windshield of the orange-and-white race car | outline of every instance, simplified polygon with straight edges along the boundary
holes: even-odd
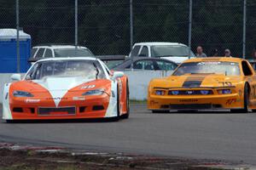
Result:
[[[27,73],[26,80],[41,80],[45,77],[83,77],[102,79],[105,74],[98,61],[58,60],[42,61],[34,65]]]

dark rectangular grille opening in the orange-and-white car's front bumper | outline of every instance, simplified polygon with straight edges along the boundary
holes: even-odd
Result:
[[[75,115],[75,107],[60,107],[60,108],[39,108],[38,115],[48,116],[48,115]]]

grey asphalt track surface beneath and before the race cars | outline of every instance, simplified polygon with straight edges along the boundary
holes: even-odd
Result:
[[[2,115],[2,108],[0,108]],[[1,116],[2,117],[2,116]],[[153,114],[131,105],[119,122],[0,122],[0,142],[256,164],[256,113]]]

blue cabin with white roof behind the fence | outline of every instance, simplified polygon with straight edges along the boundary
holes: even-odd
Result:
[[[30,65],[31,36],[24,31],[20,35],[20,72],[26,72]],[[16,30],[0,29],[0,73],[17,72]]]

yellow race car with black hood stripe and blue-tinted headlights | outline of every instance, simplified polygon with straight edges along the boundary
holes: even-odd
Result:
[[[148,109],[256,111],[255,89],[256,74],[246,59],[188,59],[172,76],[149,82]]]

